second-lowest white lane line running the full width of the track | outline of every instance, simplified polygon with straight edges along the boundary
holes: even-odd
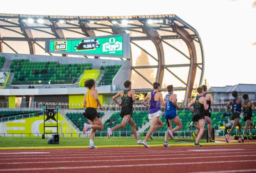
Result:
[[[254,155],[235,155],[236,157],[252,157]],[[84,162],[120,162],[120,161],[145,161],[145,160],[175,160],[175,159],[196,159],[196,158],[230,158],[232,156],[207,156],[207,157],[186,157],[186,158],[135,158],[135,159],[112,159],[112,160],[69,160],[69,161],[54,161],[54,163],[84,163]],[[47,162],[7,162],[1,164],[34,164],[34,163],[52,163],[52,161]]]

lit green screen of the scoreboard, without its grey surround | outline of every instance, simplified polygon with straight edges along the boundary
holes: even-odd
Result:
[[[102,54],[123,56],[123,36],[89,39],[50,40],[49,51],[63,54]]]

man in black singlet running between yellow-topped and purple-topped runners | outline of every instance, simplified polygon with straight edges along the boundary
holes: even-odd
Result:
[[[113,96],[113,100],[121,106],[120,117],[123,118],[121,124],[116,125],[113,128],[108,128],[107,135],[110,138],[112,135],[112,131],[118,130],[120,128],[125,128],[126,124],[129,123],[131,125],[131,131],[137,141],[137,144],[142,144],[142,141],[138,139],[136,132],[136,124],[132,119],[132,107],[133,102],[135,102],[135,91],[131,90],[131,81],[125,81],[124,83],[125,90],[118,92],[115,96]],[[121,97],[122,102],[118,102],[117,98]]]

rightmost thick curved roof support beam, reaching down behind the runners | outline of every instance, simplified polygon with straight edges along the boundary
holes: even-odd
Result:
[[[188,51],[189,51],[189,57],[190,57],[190,67],[188,72],[188,81],[187,81],[187,89],[185,92],[185,98],[184,98],[184,105],[188,105],[189,99],[192,94],[193,85],[195,81],[196,76],[196,70],[197,70],[197,57],[196,57],[196,48],[193,42],[193,37],[190,36],[188,31],[184,30],[183,28],[180,28],[177,24],[172,25],[172,29],[174,32],[176,32],[177,35],[181,37],[181,39],[187,44]]]

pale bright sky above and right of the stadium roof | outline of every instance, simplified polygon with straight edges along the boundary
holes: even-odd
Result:
[[[0,13],[175,14],[199,33],[209,86],[256,84],[256,0],[1,0]]]

